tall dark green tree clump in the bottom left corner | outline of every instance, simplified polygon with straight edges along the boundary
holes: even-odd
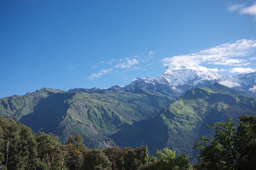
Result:
[[[0,132],[0,161],[8,164],[8,169],[36,169],[37,142],[32,130],[22,123],[0,116]]]

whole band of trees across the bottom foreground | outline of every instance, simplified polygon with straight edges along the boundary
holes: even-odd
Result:
[[[256,116],[213,123],[214,138],[200,137],[198,163],[168,148],[149,154],[147,146],[88,149],[80,134],[61,145],[51,133],[34,134],[22,123],[0,116],[0,162],[9,170],[252,170],[256,169]]]

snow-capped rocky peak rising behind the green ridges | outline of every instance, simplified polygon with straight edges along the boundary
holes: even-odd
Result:
[[[256,97],[256,72],[226,76],[192,61],[186,61],[182,65],[169,66],[158,78],[137,78],[124,88],[141,87],[163,94],[180,96],[192,87],[209,87],[216,82],[245,91]]]

